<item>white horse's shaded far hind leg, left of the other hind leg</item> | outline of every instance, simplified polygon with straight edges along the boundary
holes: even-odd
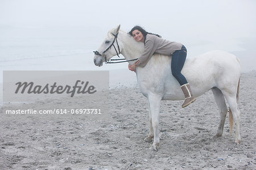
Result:
[[[221,90],[218,88],[213,88],[212,92],[214,95],[215,102],[218,106],[218,111],[220,113],[220,123],[218,125],[218,131],[216,134],[217,137],[220,137],[222,136],[222,133],[223,133],[224,123],[226,119],[226,114],[228,113],[228,108],[226,107],[226,102]]]

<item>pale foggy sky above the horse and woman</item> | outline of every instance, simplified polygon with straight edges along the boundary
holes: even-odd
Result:
[[[38,36],[55,28],[59,36],[101,41],[118,24],[124,31],[138,24],[177,42],[232,45],[237,38],[256,38],[255,9],[254,0],[0,0],[0,28],[43,30],[35,31]]]

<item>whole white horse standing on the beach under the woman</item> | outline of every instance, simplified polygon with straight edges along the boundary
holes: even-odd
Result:
[[[101,44],[98,51],[94,52],[94,64],[102,66],[115,55],[121,53],[126,60],[132,60],[141,55],[144,44],[134,40],[132,36],[122,30],[113,28]],[[114,48],[113,48],[114,47]],[[118,49],[117,49],[118,48]],[[134,61],[129,61],[133,64]],[[187,59],[181,71],[191,85],[195,97],[199,97],[208,90],[212,90],[220,113],[220,124],[217,136],[221,136],[224,128],[228,109],[231,110],[230,134],[232,133],[233,120],[236,125],[236,142],[241,143],[240,136],[240,110],[238,109],[238,94],[240,84],[241,65],[236,56],[223,51],[211,51],[203,55]],[[137,81],[142,94],[148,98],[150,107],[150,134],[144,140],[154,142],[152,150],[157,151],[159,146],[159,111],[161,100],[183,100],[184,94],[180,85],[171,73],[171,57],[157,53],[151,57],[145,67],[136,69]],[[193,104],[191,105],[193,107]],[[233,117],[232,117],[233,115]]]

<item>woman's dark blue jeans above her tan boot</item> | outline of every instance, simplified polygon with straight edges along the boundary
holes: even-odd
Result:
[[[183,45],[181,50],[177,50],[172,55],[172,63],[171,63],[171,69],[172,69],[172,76],[174,76],[180,85],[187,84],[186,78],[181,74],[181,69],[183,68],[183,65],[185,63],[187,57],[187,49]]]

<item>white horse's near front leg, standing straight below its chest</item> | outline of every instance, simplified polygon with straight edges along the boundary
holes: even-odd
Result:
[[[153,131],[154,134],[154,142],[150,147],[151,150],[157,151],[159,146],[159,133],[158,133],[158,126],[159,126],[159,111],[160,111],[160,101],[162,96],[157,94],[150,94],[148,95],[148,103],[150,106],[150,113],[151,113],[151,132]],[[150,132],[150,133],[151,133]]]

